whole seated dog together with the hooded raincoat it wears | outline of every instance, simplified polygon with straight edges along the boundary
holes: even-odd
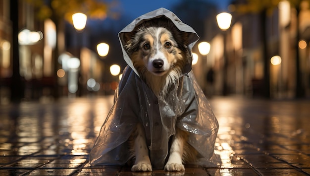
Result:
[[[127,66],[90,152],[91,165],[133,172],[216,167],[218,122],[192,70],[195,30],[158,8],[118,33]]]

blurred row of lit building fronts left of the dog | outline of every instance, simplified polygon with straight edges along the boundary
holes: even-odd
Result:
[[[72,24],[64,19],[60,25],[51,19],[39,20],[32,4],[26,0],[17,2],[18,9],[15,10],[18,12],[19,47],[13,49],[10,20],[10,3],[13,2],[0,0],[0,103],[10,101],[12,55],[17,51],[23,85],[20,90],[24,91],[23,100],[53,99],[70,95],[103,95],[113,92],[118,77],[110,78],[111,75],[106,72],[108,65],[104,64],[96,51],[90,49],[90,31],[76,31]],[[39,35],[39,39],[36,39],[35,35]],[[57,56],[54,56],[55,54]],[[68,60],[64,61],[58,56],[65,56],[68,60],[78,59],[79,66],[69,68]],[[90,78],[96,80],[96,88],[88,87],[87,81]]]

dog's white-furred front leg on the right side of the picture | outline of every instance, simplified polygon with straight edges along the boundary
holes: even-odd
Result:
[[[185,171],[184,165],[182,164],[182,156],[186,137],[186,132],[176,128],[170,148],[170,156],[164,168],[165,171]]]

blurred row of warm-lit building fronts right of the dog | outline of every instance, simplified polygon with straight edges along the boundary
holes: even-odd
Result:
[[[245,2],[245,0],[235,0],[234,5]],[[214,94],[222,95],[223,92],[223,82],[220,80],[224,77],[223,57],[226,52],[228,94],[264,97],[266,88],[264,81],[267,74],[270,98],[294,98],[296,91],[301,90],[304,91],[303,97],[309,97],[310,9],[308,1],[302,2],[300,9],[297,15],[296,9],[289,1],[281,1],[272,12],[264,14],[266,15],[263,21],[265,28],[261,27],[261,13],[232,12],[232,25],[225,31],[226,34],[219,32],[210,41],[211,50],[207,55],[207,67],[213,67],[215,71]],[[266,32],[266,55],[263,51],[263,30]],[[298,30],[299,41],[297,40]],[[224,37],[226,37],[225,40]],[[223,51],[224,48],[226,51]],[[297,50],[299,67],[296,63]],[[280,62],[271,63],[273,56],[279,56]],[[264,63],[265,61],[267,63]],[[268,64],[267,71],[264,70],[265,64]],[[301,89],[298,89],[297,85],[298,72],[300,72]]]

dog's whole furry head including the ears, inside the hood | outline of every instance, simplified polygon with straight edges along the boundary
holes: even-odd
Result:
[[[125,49],[140,74],[156,76],[178,70],[181,74],[189,53],[184,36],[173,24],[150,21],[140,26],[125,45]],[[175,75],[176,76],[176,75]],[[177,76],[176,76],[177,77]]]

